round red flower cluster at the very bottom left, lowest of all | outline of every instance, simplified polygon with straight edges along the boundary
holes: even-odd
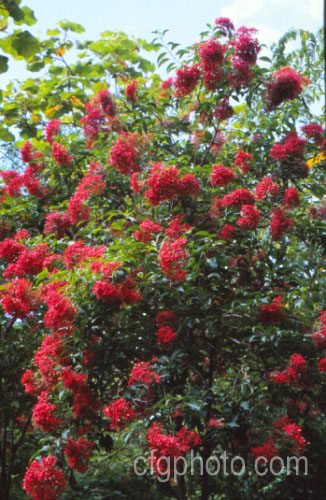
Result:
[[[64,473],[56,467],[57,461],[50,455],[30,464],[23,488],[33,500],[57,500],[67,488]]]

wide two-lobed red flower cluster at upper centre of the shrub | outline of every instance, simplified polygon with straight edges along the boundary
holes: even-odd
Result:
[[[159,205],[163,201],[172,200],[175,196],[194,196],[200,192],[200,184],[192,174],[180,177],[180,172],[175,167],[163,167],[156,163],[150,170],[147,178],[149,189],[145,196],[150,205]]]

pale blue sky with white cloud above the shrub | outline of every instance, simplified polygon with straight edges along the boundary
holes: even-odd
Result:
[[[86,28],[85,39],[120,30],[151,41],[154,30],[169,29],[167,39],[185,46],[197,42],[206,24],[221,16],[229,17],[236,28],[257,28],[258,39],[268,46],[292,28],[316,32],[323,20],[323,0],[23,0],[23,4],[38,19],[31,28],[36,36],[68,19]],[[32,75],[23,71],[23,63],[12,64],[7,74],[0,75],[0,87],[10,78],[26,76]]]

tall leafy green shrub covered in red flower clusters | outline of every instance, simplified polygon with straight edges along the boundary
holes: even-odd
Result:
[[[317,39],[313,69],[304,37],[262,68],[257,31],[218,18],[167,45],[178,66],[159,33],[104,32],[68,63],[67,23],[31,62],[44,82],[1,94],[1,499],[323,498]],[[162,465],[215,450],[249,457],[236,488]],[[309,478],[252,474],[289,453]]]

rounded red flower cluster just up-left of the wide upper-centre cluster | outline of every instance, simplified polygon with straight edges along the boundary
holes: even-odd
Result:
[[[123,175],[140,172],[139,152],[141,137],[139,134],[123,132],[110,149],[109,163]]]

